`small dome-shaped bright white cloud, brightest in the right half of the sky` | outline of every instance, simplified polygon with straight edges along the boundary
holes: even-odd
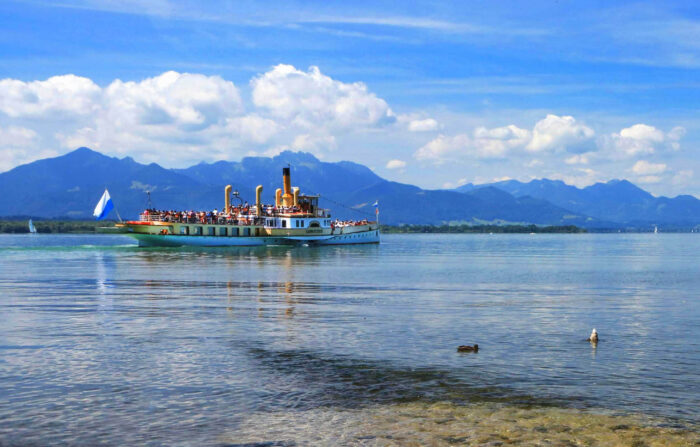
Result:
[[[591,149],[593,129],[577,123],[572,116],[547,115],[535,124],[532,139],[525,147],[530,152],[569,151]]]

